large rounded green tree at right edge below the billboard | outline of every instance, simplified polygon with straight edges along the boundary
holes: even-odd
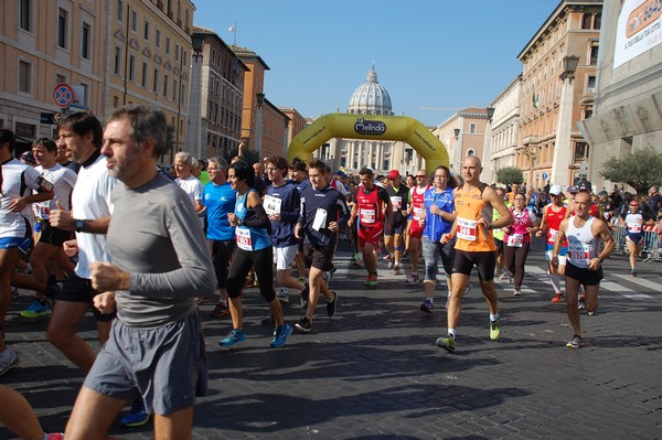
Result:
[[[611,157],[602,163],[600,175],[611,182],[627,183],[643,195],[662,182],[662,153],[652,148],[636,150],[622,159]]]

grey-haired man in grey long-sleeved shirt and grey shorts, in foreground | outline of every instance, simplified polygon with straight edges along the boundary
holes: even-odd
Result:
[[[186,194],[157,173],[167,120],[140,106],[115,110],[102,153],[119,179],[108,226],[113,264],[93,262],[102,313],[117,309],[110,339],[78,395],[66,438],[105,438],[120,409],[141,394],[156,439],[190,439],[195,395],[206,391],[206,353],[195,296],[212,294],[214,271]],[[136,208],[139,206],[140,208]]]

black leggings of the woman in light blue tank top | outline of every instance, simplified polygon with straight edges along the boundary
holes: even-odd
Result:
[[[250,268],[259,281],[259,292],[267,302],[276,298],[274,290],[274,248],[271,246],[260,250],[244,250],[237,248],[232,256],[227,273],[227,296],[237,298],[244,291],[246,276]]]

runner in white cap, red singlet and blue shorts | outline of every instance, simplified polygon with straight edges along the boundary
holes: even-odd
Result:
[[[568,255],[568,242],[564,240],[560,249],[558,250],[557,266],[552,265],[552,254],[554,251],[556,237],[558,236],[558,229],[560,228],[560,222],[566,218],[568,208],[563,203],[564,195],[560,186],[553,185],[549,189],[549,195],[552,196],[552,203],[543,208],[543,221],[541,223],[540,230],[536,233],[536,236],[542,237],[543,230],[545,230],[545,259],[547,260],[548,265],[547,275],[549,276],[552,287],[554,288],[554,297],[552,298],[552,302],[558,303],[563,302],[564,299],[558,276],[563,276],[565,273],[566,257]]]

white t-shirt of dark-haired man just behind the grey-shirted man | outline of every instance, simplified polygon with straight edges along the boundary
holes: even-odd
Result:
[[[74,192],[72,193],[72,215],[78,219],[97,219],[113,214],[110,193],[117,179],[108,175],[106,157],[99,155],[92,164],[81,167]],[[136,206],[140,210],[140,206]],[[78,264],[76,275],[92,278],[89,264],[110,261],[105,234],[76,233],[78,242]]]

